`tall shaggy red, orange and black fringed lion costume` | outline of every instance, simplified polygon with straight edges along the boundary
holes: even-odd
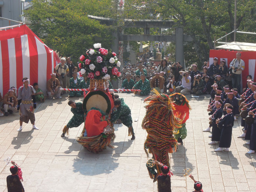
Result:
[[[148,103],[145,106],[146,115],[141,125],[142,129],[148,133],[144,150],[147,156],[148,153],[151,153],[153,159],[170,167],[169,153],[175,152],[178,144],[173,136],[173,130],[180,128],[181,121],[173,115],[173,106],[169,97],[160,94],[156,89],[153,92],[154,95],[150,95],[144,100]],[[157,169],[157,173],[154,169]],[[150,178],[153,179],[153,175],[161,173],[161,167],[148,167],[148,172]]]

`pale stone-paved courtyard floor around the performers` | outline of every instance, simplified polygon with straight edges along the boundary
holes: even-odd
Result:
[[[67,96],[67,95],[66,95]],[[22,132],[19,128],[17,113],[0,117],[0,191],[7,191],[6,177],[10,174],[11,164],[4,159],[11,157],[23,171],[23,186],[26,192],[155,192],[157,183],[148,176],[145,166],[147,157],[143,150],[146,132],[141,129],[145,115],[145,97],[120,93],[132,110],[133,127],[136,139],[130,140],[128,129],[115,124],[116,138],[114,149],[106,149],[100,154],[92,154],[75,140],[82,132],[82,124],[72,128],[70,135],[61,138],[62,129],[72,117],[68,98],[46,100],[36,111],[36,126],[32,130],[26,124]],[[82,98],[75,98],[82,102]],[[74,99],[73,99],[74,100]],[[195,180],[203,184],[205,192],[212,191],[256,191],[256,155],[245,154],[248,146],[243,139],[240,118],[233,127],[230,152],[214,152],[217,146],[208,145],[209,132],[206,106],[209,97],[191,98],[192,111],[187,121],[188,136],[184,146],[170,155],[171,186],[173,192],[193,190],[193,181],[183,177],[183,169],[190,168]],[[25,124],[24,124],[25,125]]]

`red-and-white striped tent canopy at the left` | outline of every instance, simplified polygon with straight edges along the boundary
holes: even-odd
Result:
[[[60,58],[26,25],[0,30],[0,92],[20,87],[22,78],[38,83],[46,92],[46,82]]]

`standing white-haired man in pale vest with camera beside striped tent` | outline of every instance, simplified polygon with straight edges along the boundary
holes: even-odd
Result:
[[[61,87],[63,88],[67,88],[67,75],[69,74],[69,69],[65,62],[66,58],[61,58],[61,62],[54,68],[54,72],[57,74]],[[64,92],[65,91],[63,91],[62,94]]]

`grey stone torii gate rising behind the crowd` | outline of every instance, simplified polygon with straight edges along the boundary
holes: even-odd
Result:
[[[112,18],[97,17],[88,15],[90,19],[98,20],[101,24],[115,25],[117,20]],[[123,35],[119,30],[113,30],[112,36],[115,38],[112,41],[111,49],[115,52],[119,52],[120,41],[175,41],[175,59],[180,61],[183,68],[184,65],[184,41],[193,41],[191,36],[183,34],[183,27],[176,27],[174,35],[150,35],[150,28],[171,28],[174,25],[174,21],[154,20],[154,19],[142,19],[139,21],[133,21],[131,19],[124,19],[124,28],[143,28],[143,35]],[[119,56],[120,57],[120,56]]]

